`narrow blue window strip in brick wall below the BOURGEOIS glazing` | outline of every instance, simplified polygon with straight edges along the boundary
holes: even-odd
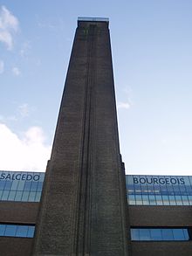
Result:
[[[131,228],[133,241],[188,241],[189,228]]]

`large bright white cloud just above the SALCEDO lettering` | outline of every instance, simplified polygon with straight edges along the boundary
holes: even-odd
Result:
[[[0,124],[0,170],[45,170],[51,146],[45,145],[42,128],[31,127],[19,138]]]

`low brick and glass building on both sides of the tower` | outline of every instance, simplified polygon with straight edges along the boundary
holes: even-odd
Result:
[[[43,172],[0,171],[0,254],[28,256]],[[192,252],[192,176],[126,176],[130,255]],[[10,246],[11,245],[11,246]]]

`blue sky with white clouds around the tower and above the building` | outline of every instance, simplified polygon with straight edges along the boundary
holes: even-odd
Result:
[[[109,17],[127,173],[192,174],[192,2],[0,1],[0,170],[45,170],[77,17]]]

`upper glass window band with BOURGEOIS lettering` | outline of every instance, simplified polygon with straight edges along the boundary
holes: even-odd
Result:
[[[128,204],[192,205],[192,176],[127,176]]]

